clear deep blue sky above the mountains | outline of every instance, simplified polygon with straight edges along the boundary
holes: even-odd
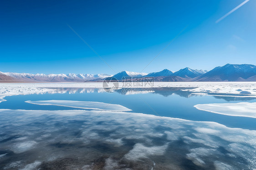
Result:
[[[0,71],[115,74],[256,65],[256,0],[215,23],[243,1],[1,1]]]

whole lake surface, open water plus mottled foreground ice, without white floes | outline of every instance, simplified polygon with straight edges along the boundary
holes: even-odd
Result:
[[[122,89],[107,93],[97,88],[61,88],[7,96],[0,103],[0,109],[10,109],[0,112],[0,169],[256,168],[256,119],[194,107],[256,99],[195,95],[182,89],[186,88],[126,94]],[[34,105],[27,100],[103,102],[131,111]]]

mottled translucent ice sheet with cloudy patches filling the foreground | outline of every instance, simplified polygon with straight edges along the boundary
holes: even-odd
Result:
[[[256,131],[215,122],[116,111],[1,109],[0,129],[8,131],[1,133],[0,141],[5,142],[0,150],[19,153],[14,160],[22,162],[19,168],[35,161],[57,167],[66,164],[67,158],[76,162],[77,169],[92,162],[96,166],[99,160],[105,166],[113,161],[116,169],[122,169],[123,164],[139,169],[153,162],[155,169],[184,169],[186,159],[193,162],[189,166],[194,169],[210,169],[212,165],[220,169],[256,168]],[[25,143],[33,145],[22,150]],[[23,155],[32,155],[30,162]],[[83,160],[81,167],[79,155],[88,160]],[[49,156],[54,160],[47,162]]]

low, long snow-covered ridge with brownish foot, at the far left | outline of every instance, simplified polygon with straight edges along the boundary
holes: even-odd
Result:
[[[2,73],[2,75],[9,76],[12,78],[12,81],[20,81],[20,82],[84,82],[86,80],[93,80],[97,78],[106,78],[112,75],[107,74],[30,74],[30,73]],[[8,80],[10,80],[8,78]],[[6,79],[6,78],[5,78]]]

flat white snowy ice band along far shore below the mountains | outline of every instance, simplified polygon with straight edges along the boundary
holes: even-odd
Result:
[[[133,84],[132,84],[133,85]],[[102,83],[1,83],[0,96],[7,95],[25,95],[47,91],[40,88],[102,88]],[[141,86],[132,86],[129,88]],[[143,87],[195,87],[187,89],[191,92],[218,93],[218,94],[237,94],[256,95],[256,82],[154,82],[153,85],[144,85]],[[30,88],[30,89],[29,89]],[[119,83],[119,88],[125,88],[123,83]],[[20,91],[19,91],[20,90]],[[48,91],[52,91],[48,90]],[[251,93],[251,94],[250,94]]]

